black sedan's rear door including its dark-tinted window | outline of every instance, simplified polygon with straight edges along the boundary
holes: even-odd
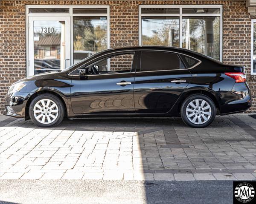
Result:
[[[174,52],[140,51],[140,59],[134,80],[136,113],[168,113],[192,75]]]

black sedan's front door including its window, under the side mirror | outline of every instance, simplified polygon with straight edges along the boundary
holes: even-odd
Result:
[[[111,55],[74,71],[71,104],[76,114],[134,113],[134,53]]]

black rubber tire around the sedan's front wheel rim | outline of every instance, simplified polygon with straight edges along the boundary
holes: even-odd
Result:
[[[37,102],[39,102],[40,100],[42,100],[42,99],[50,99],[53,102],[55,102],[55,104],[58,106],[58,116],[57,116],[57,118],[53,122],[48,123],[48,124],[44,124],[44,123],[39,122],[37,119],[35,119],[35,116],[34,116],[33,108],[34,108],[35,104]],[[30,119],[32,120],[32,122],[35,125],[38,125],[39,127],[57,126],[62,122],[62,120],[64,118],[64,115],[65,115],[65,109],[64,109],[63,102],[58,97],[56,97],[55,95],[52,95],[52,94],[41,94],[39,96],[36,96],[35,99],[33,99],[32,102],[29,105]]]

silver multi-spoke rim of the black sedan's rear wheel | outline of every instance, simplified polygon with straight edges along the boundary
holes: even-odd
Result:
[[[186,116],[190,122],[201,125],[206,123],[212,115],[212,109],[203,99],[195,99],[186,107]]]

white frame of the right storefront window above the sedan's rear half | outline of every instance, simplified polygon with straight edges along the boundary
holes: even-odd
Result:
[[[179,14],[142,14],[142,8],[179,8]],[[220,8],[219,14],[182,14],[182,8]],[[222,53],[223,53],[223,20],[222,15],[223,13],[223,6],[216,4],[216,5],[140,5],[139,6],[139,45],[142,45],[142,27],[141,27],[141,19],[142,16],[173,16],[179,17],[179,34],[180,34],[180,48],[182,48],[182,17],[184,16],[197,16],[197,17],[204,17],[204,16],[219,16],[220,17],[220,61],[222,62]]]

